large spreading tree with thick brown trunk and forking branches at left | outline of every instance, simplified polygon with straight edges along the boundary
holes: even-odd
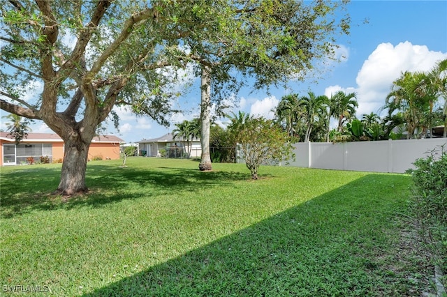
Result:
[[[185,65],[179,38],[193,26],[177,17],[194,5],[170,2],[2,2],[0,108],[42,120],[64,140],[64,195],[87,190],[89,145],[115,105],[166,123],[175,95],[166,84]]]

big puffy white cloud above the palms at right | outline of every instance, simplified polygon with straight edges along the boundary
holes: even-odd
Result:
[[[394,46],[381,43],[368,56],[358,71],[356,87],[342,88],[329,86],[325,95],[330,96],[335,91],[356,92],[358,99],[357,116],[379,112],[385,105],[385,99],[393,81],[404,71],[428,71],[437,61],[446,59],[447,53],[433,52],[425,45],[412,45],[406,41]]]

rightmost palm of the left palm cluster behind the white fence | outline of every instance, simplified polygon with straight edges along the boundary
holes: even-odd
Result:
[[[343,131],[343,124],[356,114],[358,102],[356,93],[338,91],[329,99],[330,116],[338,120],[337,130]]]

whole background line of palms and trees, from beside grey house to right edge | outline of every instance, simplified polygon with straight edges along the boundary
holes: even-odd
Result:
[[[434,126],[447,125],[447,59],[439,61],[432,70],[404,72],[393,82],[385,104],[380,110],[356,117],[358,100],[356,93],[338,91],[332,96],[317,96],[309,91],[305,96],[296,93],[284,96],[274,109],[270,125],[285,133],[284,142],[356,142],[385,139],[433,137]],[[246,132],[247,123],[255,118],[244,112],[226,115],[226,127],[216,123],[210,128],[212,162],[236,162],[237,144]],[[337,121],[330,128],[330,121]],[[267,121],[263,119],[263,121]],[[189,146],[192,139],[200,138],[200,121],[184,121],[176,124],[173,134]],[[252,127],[251,127],[252,129]],[[252,135],[253,137],[253,135]],[[259,135],[258,135],[259,138]],[[247,139],[245,139],[247,141]]]

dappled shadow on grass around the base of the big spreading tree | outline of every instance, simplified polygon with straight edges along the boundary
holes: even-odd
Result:
[[[123,199],[172,195],[175,191],[194,192],[247,178],[249,174],[240,172],[91,165],[86,176],[90,192],[64,200],[60,195],[52,195],[59,184],[60,168],[19,169],[1,176],[1,218],[57,208],[101,207]]]

